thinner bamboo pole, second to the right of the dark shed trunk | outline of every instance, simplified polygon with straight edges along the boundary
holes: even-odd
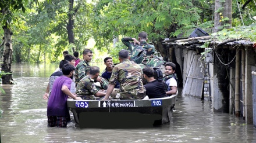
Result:
[[[241,56],[241,75],[242,75],[242,93],[243,93],[243,117],[246,118],[246,51],[244,49]]]

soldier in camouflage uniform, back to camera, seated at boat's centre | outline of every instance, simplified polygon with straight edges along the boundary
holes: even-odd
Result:
[[[120,50],[120,64],[113,67],[104,100],[109,100],[109,96],[112,93],[116,82],[120,83],[118,93],[120,94],[121,100],[138,100],[145,97],[145,87],[142,82],[143,72],[140,65],[129,61],[128,58],[129,52],[127,50]]]

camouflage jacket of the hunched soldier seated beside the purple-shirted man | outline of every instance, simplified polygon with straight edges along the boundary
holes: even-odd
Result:
[[[93,100],[94,94],[97,92],[98,90],[94,85],[94,79],[88,76],[81,79],[76,87],[76,94],[83,98],[83,100]]]

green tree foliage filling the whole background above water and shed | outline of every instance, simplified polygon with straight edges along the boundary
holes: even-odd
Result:
[[[72,9],[70,2],[73,2]],[[241,15],[236,0],[232,3],[232,25],[237,28],[223,30],[218,34],[222,38],[228,38],[225,33],[226,36],[237,34],[235,32],[243,25],[241,17],[245,25],[255,23],[254,2],[248,3],[244,9],[241,7],[246,1],[238,2]],[[212,0],[8,0],[1,1],[0,8],[1,24],[12,24],[13,60],[37,63],[59,61],[63,58],[63,50],[72,53],[72,47],[81,55],[85,47],[94,47],[88,43],[90,38],[95,40],[95,48],[100,52],[108,49],[111,56],[115,56],[116,49],[123,46],[120,43],[112,49],[113,38],[120,35],[137,38],[140,31],[147,32],[148,42],[153,42],[158,49],[162,39],[179,34],[188,36],[196,27],[211,33],[215,13]],[[2,13],[5,9],[8,12]],[[69,42],[67,34],[70,16],[74,43]],[[254,40],[253,32],[244,32],[241,36]]]

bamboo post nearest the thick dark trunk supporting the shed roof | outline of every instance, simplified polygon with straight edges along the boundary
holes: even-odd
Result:
[[[236,75],[235,75],[235,90],[234,90],[234,111],[236,116],[240,116],[240,109],[239,109],[239,83],[240,83],[240,49],[236,49]]]

